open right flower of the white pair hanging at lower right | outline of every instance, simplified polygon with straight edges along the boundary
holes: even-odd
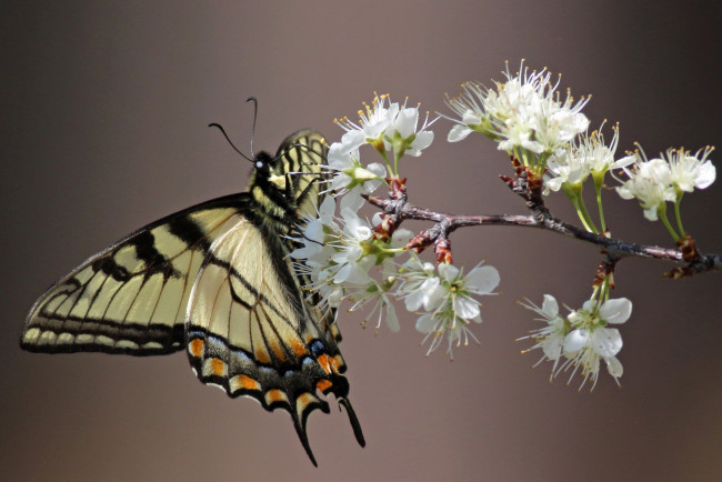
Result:
[[[568,370],[573,366],[572,375],[582,369],[584,386],[591,380],[592,388],[596,385],[600,360],[606,363],[609,374],[619,384],[623,374],[622,363],[616,354],[622,349],[622,335],[615,328],[605,328],[609,324],[622,324],[632,314],[632,302],[625,298],[606,300],[601,307],[596,301],[586,301],[579,311],[573,311],[568,319],[573,329],[564,338],[563,353],[566,361],[560,368]],[[570,380],[571,380],[570,376]]]

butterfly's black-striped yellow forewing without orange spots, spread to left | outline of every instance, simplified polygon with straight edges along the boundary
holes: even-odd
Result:
[[[32,307],[28,351],[134,355],[183,349],[193,281],[225,221],[248,209],[232,194],[171,214],[91,257]]]

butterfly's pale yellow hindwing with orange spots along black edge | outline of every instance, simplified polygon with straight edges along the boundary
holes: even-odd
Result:
[[[203,383],[222,386],[230,396],[252,396],[267,410],[287,410],[310,453],[305,418],[314,409],[329,412],[315,392],[330,375],[311,348],[317,343],[323,351],[322,334],[274,265],[273,248],[267,245],[273,241],[239,220],[213,243],[191,295],[188,353]],[[255,253],[252,262],[244,257],[247,247]]]

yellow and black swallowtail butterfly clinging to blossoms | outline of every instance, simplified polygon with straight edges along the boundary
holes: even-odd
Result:
[[[349,401],[335,313],[288,254],[288,237],[317,214],[328,149],[303,130],[258,153],[248,192],[188,208],[129,234],[53,284],[20,341],[42,353],[131,355],[185,350],[193,372],[231,398],[283,409],[311,462],[305,423],[333,393],[365,445]],[[298,263],[299,261],[297,261]]]

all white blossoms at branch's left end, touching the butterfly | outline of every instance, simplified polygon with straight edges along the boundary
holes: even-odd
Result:
[[[448,341],[452,347],[475,340],[471,322],[481,322],[480,303],[473,295],[492,294],[499,284],[493,267],[478,265],[464,275],[451,265],[435,267],[422,262],[407,249],[411,231],[394,229],[383,233],[381,217],[371,222],[358,215],[364,203],[362,195],[374,192],[397,178],[399,160],[419,157],[433,141],[428,128],[435,121],[427,114],[419,127],[418,107],[391,102],[388,96],[377,96],[371,106],[359,112],[360,121],[338,120],[345,133],[340,142],[329,147],[329,181],[327,197],[318,215],[308,218],[291,240],[298,248],[290,253],[297,271],[308,275],[304,287],[320,295],[324,311],[339,309],[347,300],[349,311],[365,309],[375,318],[375,328],[383,322],[391,331],[400,329],[395,303],[403,301],[408,311],[419,315],[417,330],[431,338],[428,354]],[[383,163],[361,162],[360,148],[369,144]],[[340,198],[335,214],[335,198]],[[400,261],[405,257],[405,261]],[[425,340],[425,339],[424,339]]]

